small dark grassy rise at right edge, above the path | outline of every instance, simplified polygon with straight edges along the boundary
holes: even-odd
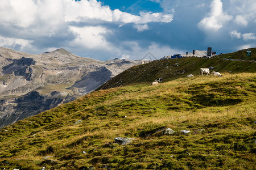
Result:
[[[251,56],[246,56],[246,52],[251,51]],[[221,56],[216,56],[215,58],[228,58],[228,59],[247,59],[247,60],[256,60],[256,48],[249,48],[239,50],[238,52],[222,54]]]

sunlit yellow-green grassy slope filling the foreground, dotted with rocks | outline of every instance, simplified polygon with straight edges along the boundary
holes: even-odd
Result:
[[[1,129],[0,168],[256,169],[256,73],[166,79],[96,91]]]

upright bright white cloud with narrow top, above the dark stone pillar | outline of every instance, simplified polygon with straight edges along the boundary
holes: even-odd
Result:
[[[205,32],[216,32],[231,19],[232,16],[222,10],[222,2],[220,0],[213,0],[212,3],[210,3],[208,17],[202,19],[197,25]]]

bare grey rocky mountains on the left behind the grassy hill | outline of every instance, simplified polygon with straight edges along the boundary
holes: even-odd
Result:
[[[0,48],[0,128],[75,100],[144,62],[102,62],[65,49],[34,55]]]

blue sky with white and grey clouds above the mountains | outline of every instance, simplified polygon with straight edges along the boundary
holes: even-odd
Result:
[[[0,46],[101,61],[229,53],[256,47],[255,9],[255,0],[2,0]]]

